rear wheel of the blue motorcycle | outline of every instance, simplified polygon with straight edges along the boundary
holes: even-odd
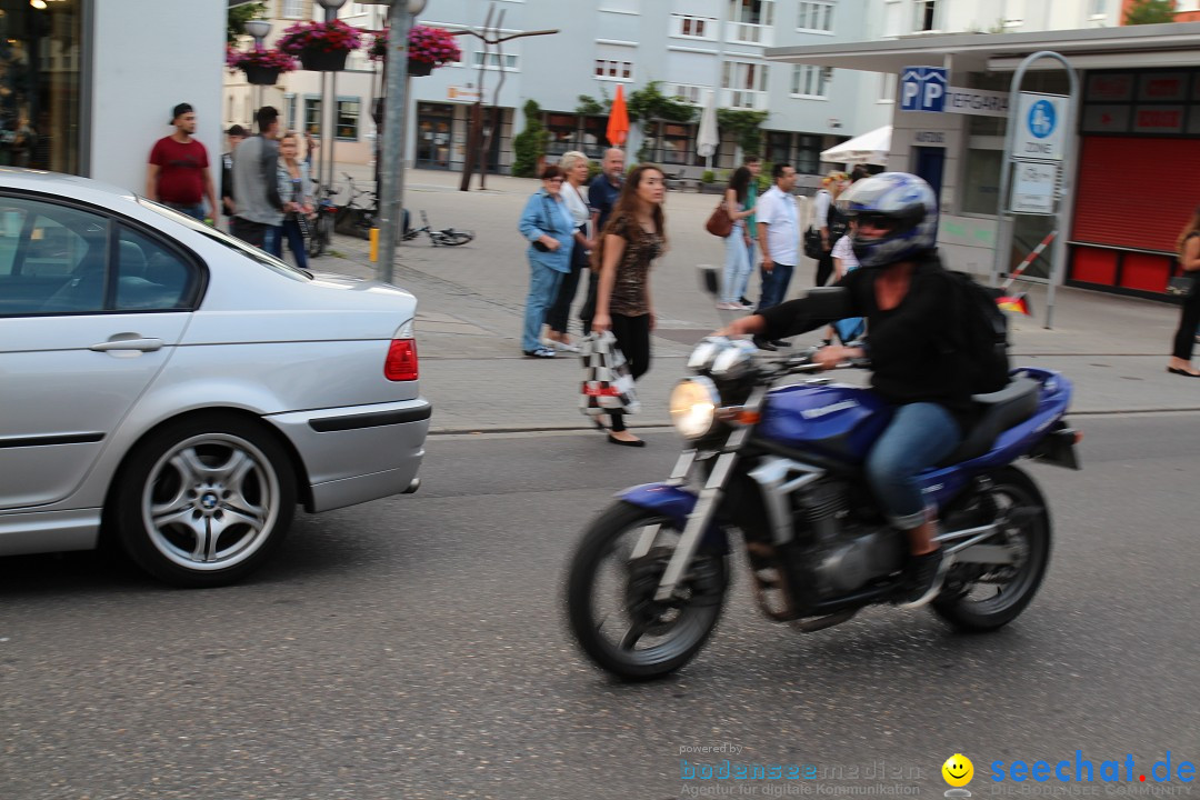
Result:
[[[1016,619],[1033,600],[1050,564],[1050,512],[1042,489],[1015,467],[1000,469],[989,477],[997,510],[1019,512],[1019,518],[985,543],[1013,547],[1018,563],[980,575],[967,575],[971,569],[967,564],[950,569],[946,588],[930,606],[964,632],[995,631]]]

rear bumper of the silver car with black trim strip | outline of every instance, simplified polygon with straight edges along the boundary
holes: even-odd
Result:
[[[425,398],[338,409],[274,414],[300,453],[312,494],[308,511],[400,494],[425,457],[433,407]]]

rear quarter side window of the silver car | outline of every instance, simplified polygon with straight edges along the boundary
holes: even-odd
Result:
[[[167,311],[192,303],[196,269],[175,251],[138,230],[116,239],[116,309]]]

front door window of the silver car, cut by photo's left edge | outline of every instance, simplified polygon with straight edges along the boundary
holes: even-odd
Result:
[[[107,241],[100,215],[0,197],[0,315],[103,309]]]

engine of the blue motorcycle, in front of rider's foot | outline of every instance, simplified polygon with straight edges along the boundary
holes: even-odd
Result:
[[[904,566],[904,536],[851,509],[851,488],[839,481],[820,481],[793,495],[796,528],[808,531],[802,535],[805,567],[821,597],[857,591]]]

